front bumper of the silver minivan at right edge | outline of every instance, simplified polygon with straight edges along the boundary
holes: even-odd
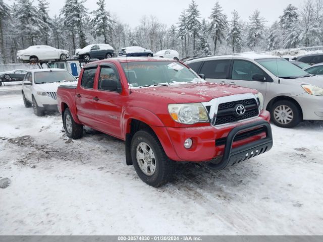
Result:
[[[323,120],[323,97],[302,93],[295,97],[302,108],[304,120]]]

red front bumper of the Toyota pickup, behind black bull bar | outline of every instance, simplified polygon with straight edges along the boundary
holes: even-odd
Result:
[[[266,128],[259,132],[254,132],[254,130],[259,130],[259,122],[268,124],[269,120],[270,114],[268,111],[262,111],[258,117],[228,125],[192,128],[153,127],[153,130],[170,159],[203,162],[224,157],[225,149],[228,147],[227,142],[230,141],[229,136],[233,130],[237,130],[236,128],[239,128],[238,133],[235,134],[237,138],[233,138],[232,145],[229,145],[232,150],[249,144],[251,144],[249,148],[257,147],[257,141],[271,137],[271,130],[268,129],[268,132]],[[240,133],[243,132],[245,126],[249,127],[250,132],[248,131],[248,135],[243,136]],[[266,127],[266,125],[262,126]],[[186,149],[184,142],[188,138],[193,140],[193,145]],[[272,140],[272,138],[270,139]],[[267,148],[266,151],[270,148]]]

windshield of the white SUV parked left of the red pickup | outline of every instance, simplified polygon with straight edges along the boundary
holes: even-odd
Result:
[[[66,71],[47,71],[47,72],[35,72],[34,81],[39,83],[53,83],[53,82],[73,82],[76,79]]]

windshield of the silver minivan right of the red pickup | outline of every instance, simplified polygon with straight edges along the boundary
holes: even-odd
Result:
[[[256,59],[255,61],[280,78],[294,79],[310,76],[283,58]]]

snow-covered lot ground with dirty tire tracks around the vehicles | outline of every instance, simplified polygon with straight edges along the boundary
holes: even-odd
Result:
[[[323,123],[273,126],[270,152],[222,171],[178,164],[155,189],[124,164],[124,143],[61,116],[37,117],[0,87],[0,235],[322,234]],[[10,90],[9,90],[10,89]]]

